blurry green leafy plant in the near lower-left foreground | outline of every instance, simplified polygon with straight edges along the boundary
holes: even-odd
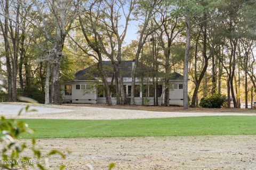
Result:
[[[3,82],[0,80],[0,91],[7,93],[6,89],[3,87]],[[24,101],[35,101],[27,97],[19,97]],[[22,111],[25,112],[35,112],[35,109],[29,109],[29,105],[21,109],[18,116]],[[27,147],[25,142],[20,142],[18,139],[23,133],[34,133],[32,129],[29,128],[28,124],[14,119],[6,119],[1,116],[0,120],[0,142],[3,147],[0,159],[1,169],[49,169],[49,159],[51,155],[60,155],[65,159],[65,155],[57,150],[53,149],[49,151],[46,155],[43,155],[41,150],[36,147],[36,140],[31,139],[31,148]],[[28,155],[24,154],[25,149],[28,149]],[[23,156],[25,155],[25,156]],[[33,156],[32,156],[33,155]],[[35,167],[37,166],[37,168]],[[60,165],[60,170],[65,169],[64,165]]]

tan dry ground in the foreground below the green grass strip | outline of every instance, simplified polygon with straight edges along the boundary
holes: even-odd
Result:
[[[27,140],[23,140],[27,141]],[[191,137],[129,137],[39,139],[43,151],[57,148],[65,160],[54,156],[52,167],[67,169],[255,169],[256,135],[209,135]]]

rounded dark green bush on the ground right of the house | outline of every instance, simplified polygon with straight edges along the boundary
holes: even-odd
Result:
[[[221,94],[213,94],[212,96],[203,97],[199,106],[207,108],[220,108],[225,104],[226,96]]]

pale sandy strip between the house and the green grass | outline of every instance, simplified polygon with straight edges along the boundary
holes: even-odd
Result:
[[[8,107],[1,107],[1,106],[4,106],[4,104],[0,105],[0,115],[4,115],[6,118],[117,120],[117,119],[189,117],[189,116],[231,116],[231,115],[256,116],[255,113],[155,112],[155,111],[136,111],[136,110],[129,110],[129,109],[115,109],[115,108],[102,108],[102,107],[56,106],[56,105],[33,106],[34,108],[38,108],[39,112],[21,114],[20,116],[17,116],[13,113],[12,114],[8,113],[8,109],[12,111],[13,110],[12,107],[17,108],[18,107],[17,105],[8,105]],[[3,108],[5,108],[5,110],[1,111],[1,109]],[[58,112],[58,113],[53,113],[53,112]]]

